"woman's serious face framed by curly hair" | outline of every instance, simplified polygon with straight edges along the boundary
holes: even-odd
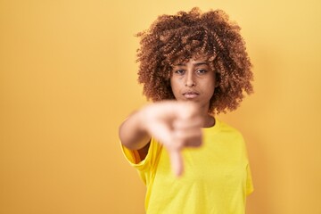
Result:
[[[215,89],[215,71],[206,58],[190,59],[174,66],[170,85],[177,101],[190,101],[208,111]]]

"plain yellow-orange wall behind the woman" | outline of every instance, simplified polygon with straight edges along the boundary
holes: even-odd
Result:
[[[321,213],[321,4],[0,0],[0,213],[144,213],[118,143],[142,106],[134,34],[221,8],[243,28],[255,95],[221,115],[247,141],[248,213]]]

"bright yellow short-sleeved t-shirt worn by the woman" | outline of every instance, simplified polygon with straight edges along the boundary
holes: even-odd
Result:
[[[122,151],[147,187],[146,213],[245,213],[253,186],[243,136],[235,128],[219,120],[203,128],[202,147],[182,151],[182,177],[172,173],[168,152],[153,138],[144,160],[124,146]]]

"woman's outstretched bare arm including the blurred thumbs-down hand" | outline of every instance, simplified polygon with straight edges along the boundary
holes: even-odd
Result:
[[[180,175],[183,172],[180,151],[202,144],[202,122],[193,103],[153,103],[134,112],[121,124],[119,138],[128,149],[140,150],[146,155],[151,136],[155,137],[169,151],[172,169]]]

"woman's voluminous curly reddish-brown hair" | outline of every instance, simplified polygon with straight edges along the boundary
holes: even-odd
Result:
[[[202,13],[197,7],[190,12],[161,15],[150,29],[136,34],[138,82],[143,94],[153,102],[175,99],[171,70],[175,63],[196,55],[208,57],[216,70],[216,88],[210,99],[210,113],[234,111],[243,100],[243,92],[253,92],[251,62],[240,27],[229,21],[221,10]]]

